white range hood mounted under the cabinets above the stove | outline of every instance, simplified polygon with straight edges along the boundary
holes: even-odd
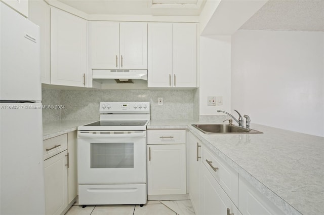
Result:
[[[147,81],[146,69],[93,69],[92,79],[99,83],[136,83]]]

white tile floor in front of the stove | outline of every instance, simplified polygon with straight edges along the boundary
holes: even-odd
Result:
[[[139,205],[88,205],[85,208],[77,202],[65,215],[195,215],[190,200],[148,201]]]

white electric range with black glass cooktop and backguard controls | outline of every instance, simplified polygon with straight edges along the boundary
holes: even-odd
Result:
[[[146,203],[149,102],[101,102],[100,121],[77,134],[80,205]]]

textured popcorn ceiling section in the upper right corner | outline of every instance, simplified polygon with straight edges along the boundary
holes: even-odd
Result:
[[[324,1],[270,0],[240,29],[324,31]]]

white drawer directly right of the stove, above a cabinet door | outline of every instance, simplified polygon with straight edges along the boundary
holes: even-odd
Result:
[[[186,130],[147,130],[147,144],[185,144]]]

